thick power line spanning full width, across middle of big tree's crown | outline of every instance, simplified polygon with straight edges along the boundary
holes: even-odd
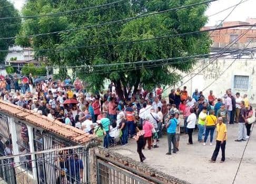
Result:
[[[149,40],[171,38],[171,37],[199,34],[199,33],[205,33],[205,32],[213,32],[214,30],[222,30],[222,29],[244,27],[244,26],[249,27],[249,26],[254,26],[254,25],[248,25],[248,24],[233,25],[233,26],[218,27],[218,28],[212,28],[212,29],[196,30],[194,32],[180,33],[180,34],[175,34],[175,35],[160,36],[160,37],[146,38],[146,39],[137,39],[137,40],[130,40],[130,41],[126,41],[126,42],[116,42],[116,43],[108,43],[108,44],[98,44],[98,45],[88,45],[88,46],[72,46],[72,47],[66,47],[66,48],[48,48],[48,49],[0,50],[0,52],[12,53],[12,52],[40,52],[40,51],[50,51],[50,50],[60,51],[60,50],[77,49],[77,48],[93,48],[93,47],[102,47],[102,46],[111,46],[111,45],[122,45],[122,44],[136,43],[136,42],[145,42],[145,41],[149,41]],[[0,38],[0,40],[1,40],[1,38]]]

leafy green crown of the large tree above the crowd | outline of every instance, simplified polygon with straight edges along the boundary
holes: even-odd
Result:
[[[102,5],[115,0],[93,1],[28,1],[23,9],[24,15],[34,13],[53,13],[70,9]],[[152,13],[166,9],[203,2],[204,0],[151,0],[120,2],[110,7],[92,8],[63,17],[38,18],[36,23],[25,21],[23,34],[38,34],[63,30],[68,28],[90,26]],[[127,98],[131,88],[137,89],[143,85],[146,89],[153,89],[156,85],[171,85],[179,80],[178,70],[189,70],[195,63],[194,59],[170,60],[164,62],[135,63],[161,58],[172,58],[209,53],[209,35],[196,34],[171,38],[148,40],[126,44],[112,44],[129,42],[159,36],[173,35],[200,30],[206,23],[204,16],[208,5],[197,5],[178,11],[156,14],[132,21],[107,24],[100,27],[78,29],[72,32],[33,37],[32,46],[40,48],[66,48],[73,46],[88,46],[58,52],[37,52],[38,56],[47,56],[59,66],[76,67],[76,73],[83,78],[88,87],[99,89],[105,79],[114,81],[117,94],[120,98]],[[34,8],[36,9],[34,11]],[[56,24],[56,25],[55,25]],[[54,25],[54,26],[53,26]],[[65,25],[63,28],[63,25]],[[47,43],[47,45],[46,45]],[[106,45],[107,44],[107,45]],[[102,45],[102,46],[95,46]],[[79,62],[82,60],[82,62]],[[115,64],[118,65],[107,65]],[[125,63],[134,63],[125,65]],[[92,65],[106,64],[104,67]],[[154,67],[153,67],[154,66]]]

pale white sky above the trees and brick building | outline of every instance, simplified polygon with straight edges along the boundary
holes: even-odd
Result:
[[[17,9],[21,9],[25,0],[9,0],[14,3]],[[174,0],[175,1],[175,0]],[[237,8],[232,12],[232,14],[226,19],[226,21],[245,21],[248,17],[256,18],[256,0],[243,0],[245,3],[238,5]],[[210,16],[212,14],[218,13],[225,8],[233,6],[235,4],[240,3],[241,0],[219,0],[211,3],[209,9],[206,11],[206,16]],[[213,26],[218,21],[222,21],[233,8],[224,11],[218,15],[210,16],[208,21],[208,26]]]

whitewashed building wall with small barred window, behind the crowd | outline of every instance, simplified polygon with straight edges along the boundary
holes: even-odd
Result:
[[[202,70],[202,71],[201,71]],[[191,69],[192,73],[182,73],[181,83],[175,87],[186,86],[189,95],[198,88],[204,96],[213,90],[215,97],[223,97],[226,90],[232,93],[247,94],[250,103],[256,104],[256,59],[219,58],[202,59]]]

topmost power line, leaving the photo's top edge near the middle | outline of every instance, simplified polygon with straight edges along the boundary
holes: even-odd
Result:
[[[74,12],[85,11],[85,10],[88,10],[88,9],[109,6],[109,5],[121,3],[121,2],[124,2],[124,1],[127,1],[127,0],[120,0],[120,1],[112,2],[112,3],[107,3],[107,4],[97,5],[97,6],[87,7],[87,8],[73,9],[73,10],[66,11],[66,12],[58,12],[58,13],[51,13],[51,14],[44,14],[44,15],[32,15],[32,16],[3,17],[3,18],[0,18],[0,20],[3,20],[3,19],[14,19],[14,18],[15,19],[16,18],[37,18],[37,17],[47,17],[47,16],[54,16],[54,15],[70,14],[70,13],[74,13]]]

